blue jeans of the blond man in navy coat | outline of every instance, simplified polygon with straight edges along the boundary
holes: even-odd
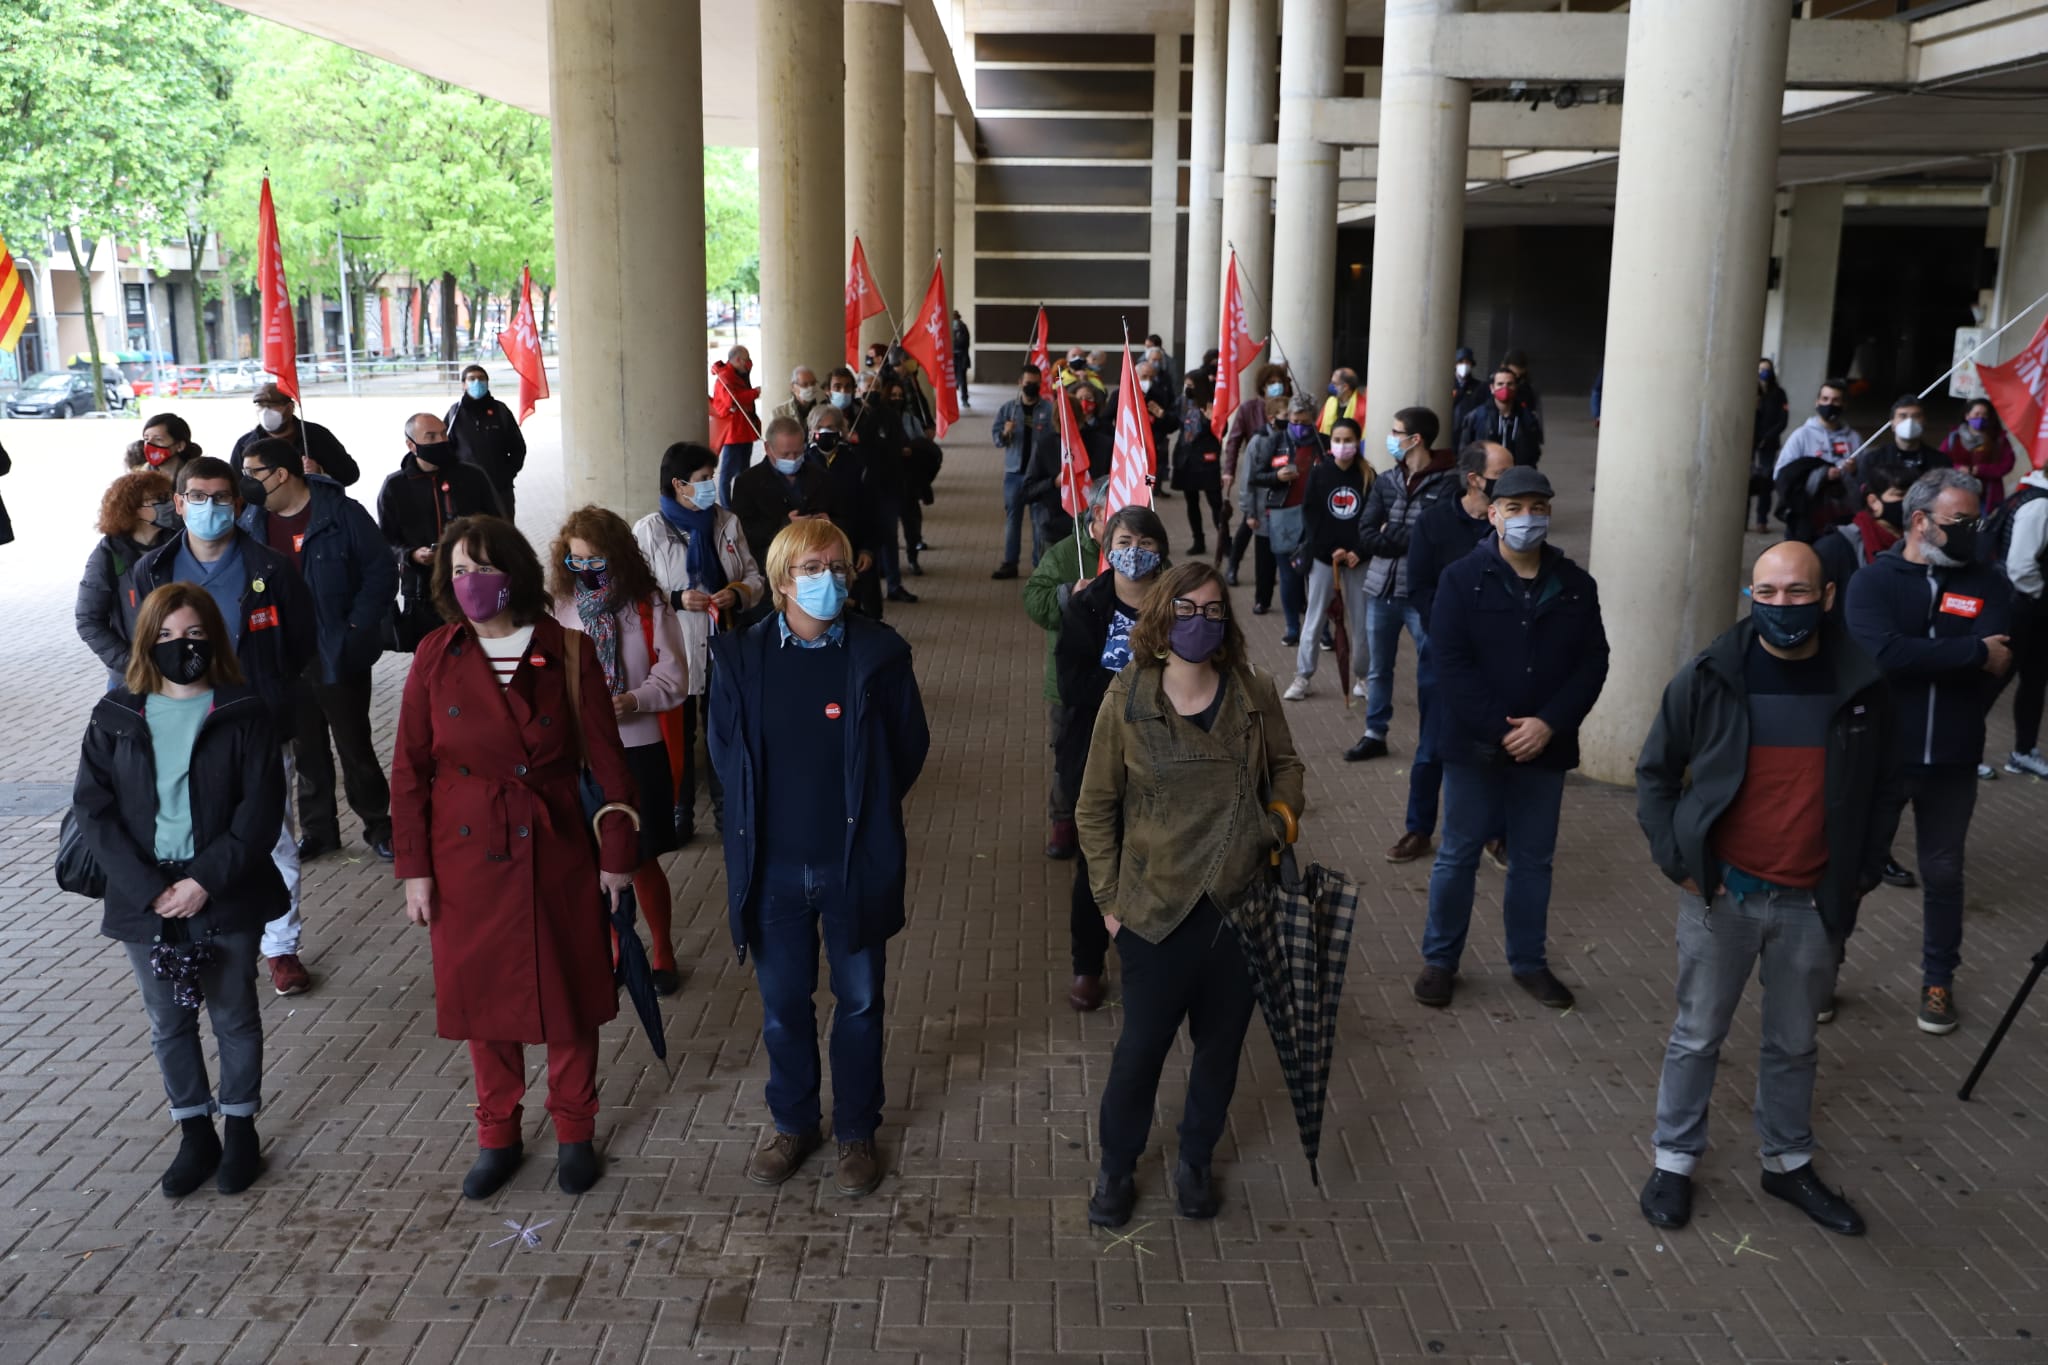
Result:
[[[762,1044],[768,1048],[768,1113],[776,1132],[817,1128],[817,935],[825,933],[831,974],[831,1134],[866,1142],[883,1119],[883,966],[881,945],[844,948],[854,907],[838,868],[764,857],[760,898],[748,950],[762,993]],[[823,925],[819,923],[823,921]]]

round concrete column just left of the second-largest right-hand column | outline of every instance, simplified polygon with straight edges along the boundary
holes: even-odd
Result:
[[[1294,383],[1313,393],[1331,370],[1337,149],[1313,137],[1311,119],[1317,100],[1343,90],[1343,0],[1286,0],[1284,23],[1272,305]]]

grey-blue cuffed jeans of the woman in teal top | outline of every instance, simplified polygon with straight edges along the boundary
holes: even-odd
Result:
[[[172,1121],[205,1113],[248,1117],[262,1109],[262,1011],[256,999],[256,931],[215,933],[213,962],[201,970],[201,993],[221,1050],[221,1099],[207,1081],[207,1050],[199,1042],[199,1011],[170,999],[170,982],[150,972],[154,943],[123,943],[141,1003],[150,1013],[150,1048],[164,1072]]]

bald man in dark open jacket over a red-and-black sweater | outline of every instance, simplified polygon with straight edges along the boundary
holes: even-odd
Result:
[[[1812,546],[1765,551],[1747,596],[1749,616],[1665,688],[1636,763],[1636,821],[1681,892],[1677,1023],[1642,1216],[1659,1228],[1692,1218],[1720,1042],[1757,972],[1763,1193],[1862,1236],[1862,1216],[1812,1171],[1812,1078],[1817,1017],[1898,827],[1892,698],[1876,661],[1829,616],[1835,589]]]

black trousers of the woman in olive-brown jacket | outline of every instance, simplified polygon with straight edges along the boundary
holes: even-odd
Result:
[[[1237,1058],[1251,1025],[1255,997],[1245,954],[1223,915],[1202,896],[1163,943],[1147,943],[1120,929],[1116,956],[1124,964],[1124,1029],[1116,1036],[1110,1081],[1102,1087],[1102,1169],[1128,1175],[1145,1154],[1159,1072],[1182,1019],[1194,1042],[1194,1062],[1180,1119],[1180,1158],[1206,1166],[1229,1119]]]

